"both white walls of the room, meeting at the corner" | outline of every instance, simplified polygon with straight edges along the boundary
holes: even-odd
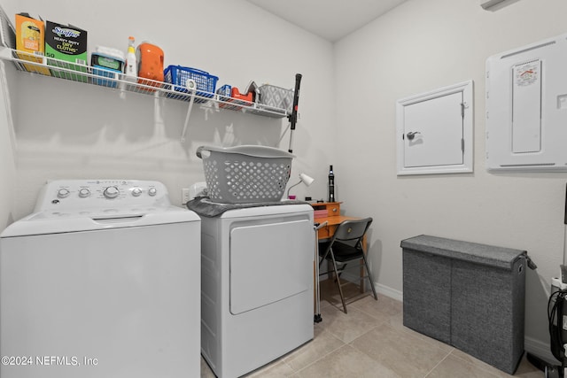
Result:
[[[567,175],[485,171],[484,75],[490,55],[563,34],[567,3],[521,0],[485,12],[477,0],[409,0],[334,46],[239,0],[165,0],[158,11],[130,4],[3,2],[8,14],[39,13],[87,29],[91,47],[125,48],[128,35],[149,40],[165,50],[166,65],[205,69],[221,84],[255,80],[291,88],[294,74],[303,73],[293,176],[306,172],[316,181],[294,190],[326,197],[326,170],[334,165],[346,213],[375,219],[370,256],[379,288],[401,295],[400,241],[410,236],[527,250],[539,269],[527,279],[526,337],[532,348],[547,348],[546,290],[563,262]],[[0,228],[31,212],[48,179],[159,180],[178,204],[181,188],[203,181],[198,145],[288,147],[288,135],[280,142],[283,120],[197,109],[181,143],[184,103],[122,99],[108,89],[27,73],[7,76]],[[397,177],[396,100],[469,79],[475,81],[474,174]]]

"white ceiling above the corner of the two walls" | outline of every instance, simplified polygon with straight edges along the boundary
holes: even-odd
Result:
[[[246,0],[330,42],[407,0]]]

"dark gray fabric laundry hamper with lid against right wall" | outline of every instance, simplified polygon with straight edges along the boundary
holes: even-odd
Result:
[[[429,235],[401,248],[404,325],[514,374],[524,354],[526,252]]]

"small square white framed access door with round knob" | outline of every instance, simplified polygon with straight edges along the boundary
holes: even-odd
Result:
[[[471,102],[472,81],[400,100],[398,174],[471,172]]]

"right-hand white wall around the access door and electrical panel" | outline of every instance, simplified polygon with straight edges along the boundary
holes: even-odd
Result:
[[[339,199],[370,215],[379,287],[402,290],[400,241],[438,235],[526,250],[531,348],[548,351],[549,282],[563,262],[567,174],[485,170],[485,59],[567,31],[563,0],[521,0],[486,12],[478,0],[409,0],[336,43]],[[351,74],[346,74],[351,73]],[[472,79],[474,174],[396,175],[396,100]]]

